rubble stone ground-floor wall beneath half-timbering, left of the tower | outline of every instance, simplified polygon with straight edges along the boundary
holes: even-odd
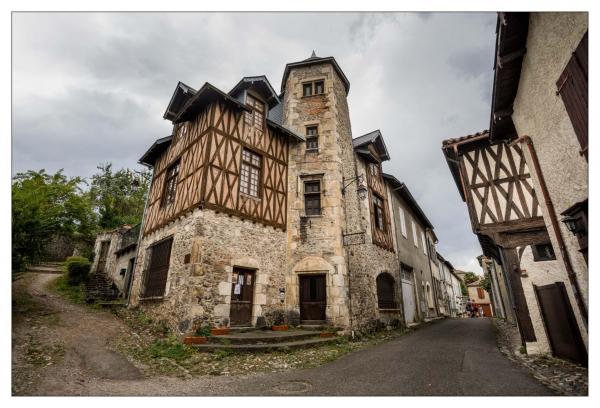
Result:
[[[162,299],[144,300],[141,286],[148,247],[173,237],[169,274]],[[229,324],[234,267],[255,270],[252,324],[283,309],[285,232],[212,210],[194,210],[143,238],[133,277],[132,306],[164,320],[178,333],[207,323]],[[189,263],[186,263],[189,257]]]

